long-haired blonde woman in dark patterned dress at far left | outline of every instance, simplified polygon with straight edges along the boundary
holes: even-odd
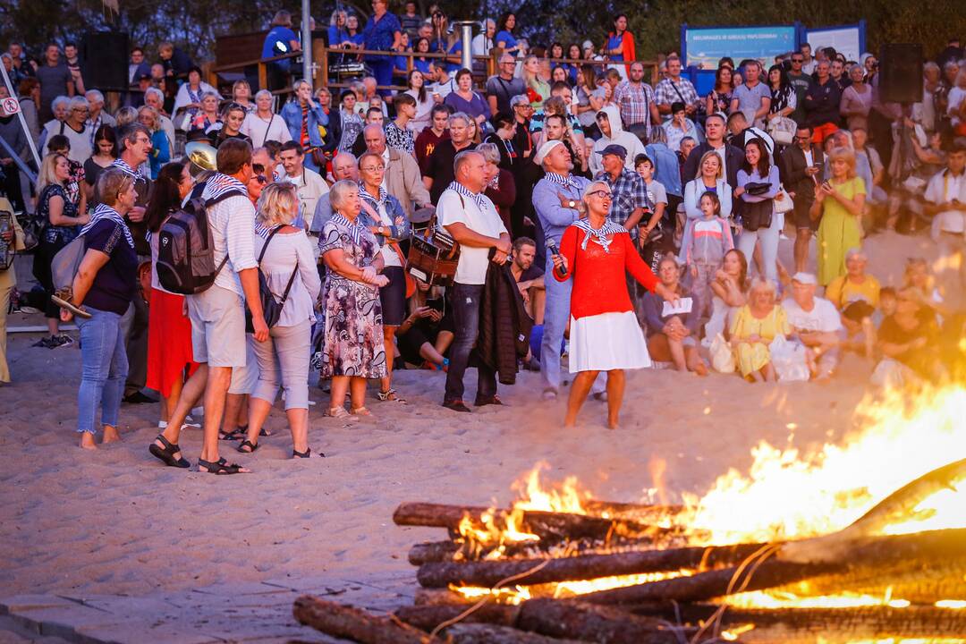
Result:
[[[43,349],[57,349],[73,343],[71,336],[60,332],[58,318],[60,311],[57,305],[50,301],[54,294],[53,275],[50,263],[61,248],[71,243],[80,233],[80,229],[88,221],[86,211],[78,208],[67,193],[67,184],[71,181],[71,163],[64,154],[47,154],[43,157],[41,172],[37,177],[37,188],[40,196],[37,199],[35,217],[43,220],[43,233],[40,244],[34,255],[34,277],[46,292],[44,316],[47,319],[49,337],[34,344]],[[81,195],[81,206],[86,202]]]

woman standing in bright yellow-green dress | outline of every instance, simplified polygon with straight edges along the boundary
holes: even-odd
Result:
[[[812,220],[818,225],[818,283],[828,286],[845,274],[845,252],[862,245],[862,211],[866,206],[866,183],[855,175],[855,154],[836,148],[829,154],[832,178],[815,186]]]

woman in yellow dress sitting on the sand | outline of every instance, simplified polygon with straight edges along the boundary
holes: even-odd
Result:
[[[750,382],[777,379],[768,346],[776,336],[791,333],[776,296],[774,283],[755,278],[748,303],[738,309],[731,322],[731,347],[738,370]]]

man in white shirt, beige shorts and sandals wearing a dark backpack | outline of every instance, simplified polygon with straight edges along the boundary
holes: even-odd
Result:
[[[169,218],[185,230],[190,223],[190,250],[211,242],[211,262],[205,274],[197,274],[197,262],[179,262],[165,253],[166,245],[177,242],[177,227],[161,226],[158,238],[158,279],[176,292],[187,293],[191,318],[191,343],[198,370],[185,382],[181,399],[168,426],[151,445],[151,453],[173,467],[188,467],[181,455],[178,438],[185,416],[204,392],[204,442],[198,470],[212,474],[239,474],[249,470],[218,457],[218,430],[233,372],[240,378],[245,364],[245,315],[251,312],[255,340],[265,342],[269,327],[265,323],[259,297],[258,263],[255,260],[255,209],[248,199],[245,184],[251,178],[251,146],[241,139],[228,139],[218,148],[218,172],[205,183],[196,210],[182,211]],[[187,207],[191,209],[189,204]],[[193,221],[189,221],[193,219]],[[199,240],[198,237],[207,237]],[[173,258],[173,259],[172,259]],[[168,266],[160,266],[162,262]],[[166,283],[167,282],[167,283]]]

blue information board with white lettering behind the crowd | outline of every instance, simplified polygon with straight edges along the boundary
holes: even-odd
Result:
[[[681,55],[687,67],[715,70],[730,56],[735,65],[745,58],[765,68],[775,57],[798,48],[798,25],[690,27],[681,25]]]

